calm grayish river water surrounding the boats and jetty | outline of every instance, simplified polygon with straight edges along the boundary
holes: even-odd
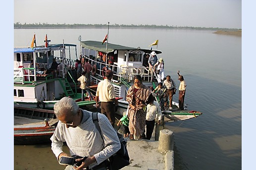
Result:
[[[82,41],[102,41],[107,29],[14,30],[14,46],[30,46],[34,33],[38,45],[48,34],[50,43],[77,44],[79,53],[79,35]],[[108,42],[150,48],[156,39],[165,74],[178,85],[180,70],[187,84],[188,109],[203,112],[194,119],[165,124],[174,132],[174,169],[241,170],[242,37],[212,31],[110,29]],[[63,170],[63,166],[58,165],[51,144],[14,145],[14,170]]]

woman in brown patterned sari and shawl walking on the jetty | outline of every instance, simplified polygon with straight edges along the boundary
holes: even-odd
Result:
[[[140,75],[134,76],[133,83],[127,91],[126,101],[129,102],[130,139],[138,140],[144,132],[146,125],[146,105],[150,103],[148,99],[152,94],[150,88],[142,83],[142,77]]]

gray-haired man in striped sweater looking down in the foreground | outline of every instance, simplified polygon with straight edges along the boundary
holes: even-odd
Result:
[[[72,98],[64,97],[54,104],[59,122],[51,136],[51,150],[57,160],[62,156],[79,156],[81,166],[66,166],[65,170],[107,170],[104,161],[120,148],[119,138],[107,118],[98,114],[101,134],[93,122],[92,112],[79,108]],[[63,143],[69,153],[63,151]],[[83,160],[84,157],[87,157]],[[101,164],[102,163],[102,164]]]

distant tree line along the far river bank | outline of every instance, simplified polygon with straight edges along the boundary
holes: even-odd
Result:
[[[48,23],[33,23],[33,24],[21,24],[19,22],[14,23],[14,29],[44,29],[44,28],[105,28],[108,27],[107,24],[48,24]],[[206,28],[206,27],[184,27],[184,26],[168,26],[168,25],[124,25],[124,24],[113,24],[109,25],[110,28],[149,28],[149,29],[189,29],[189,30],[215,30],[215,31],[238,31],[241,29],[228,29],[228,28]]]

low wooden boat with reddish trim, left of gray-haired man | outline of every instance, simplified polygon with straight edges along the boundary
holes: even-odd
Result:
[[[14,106],[14,144],[49,143],[57,123],[53,110]]]

